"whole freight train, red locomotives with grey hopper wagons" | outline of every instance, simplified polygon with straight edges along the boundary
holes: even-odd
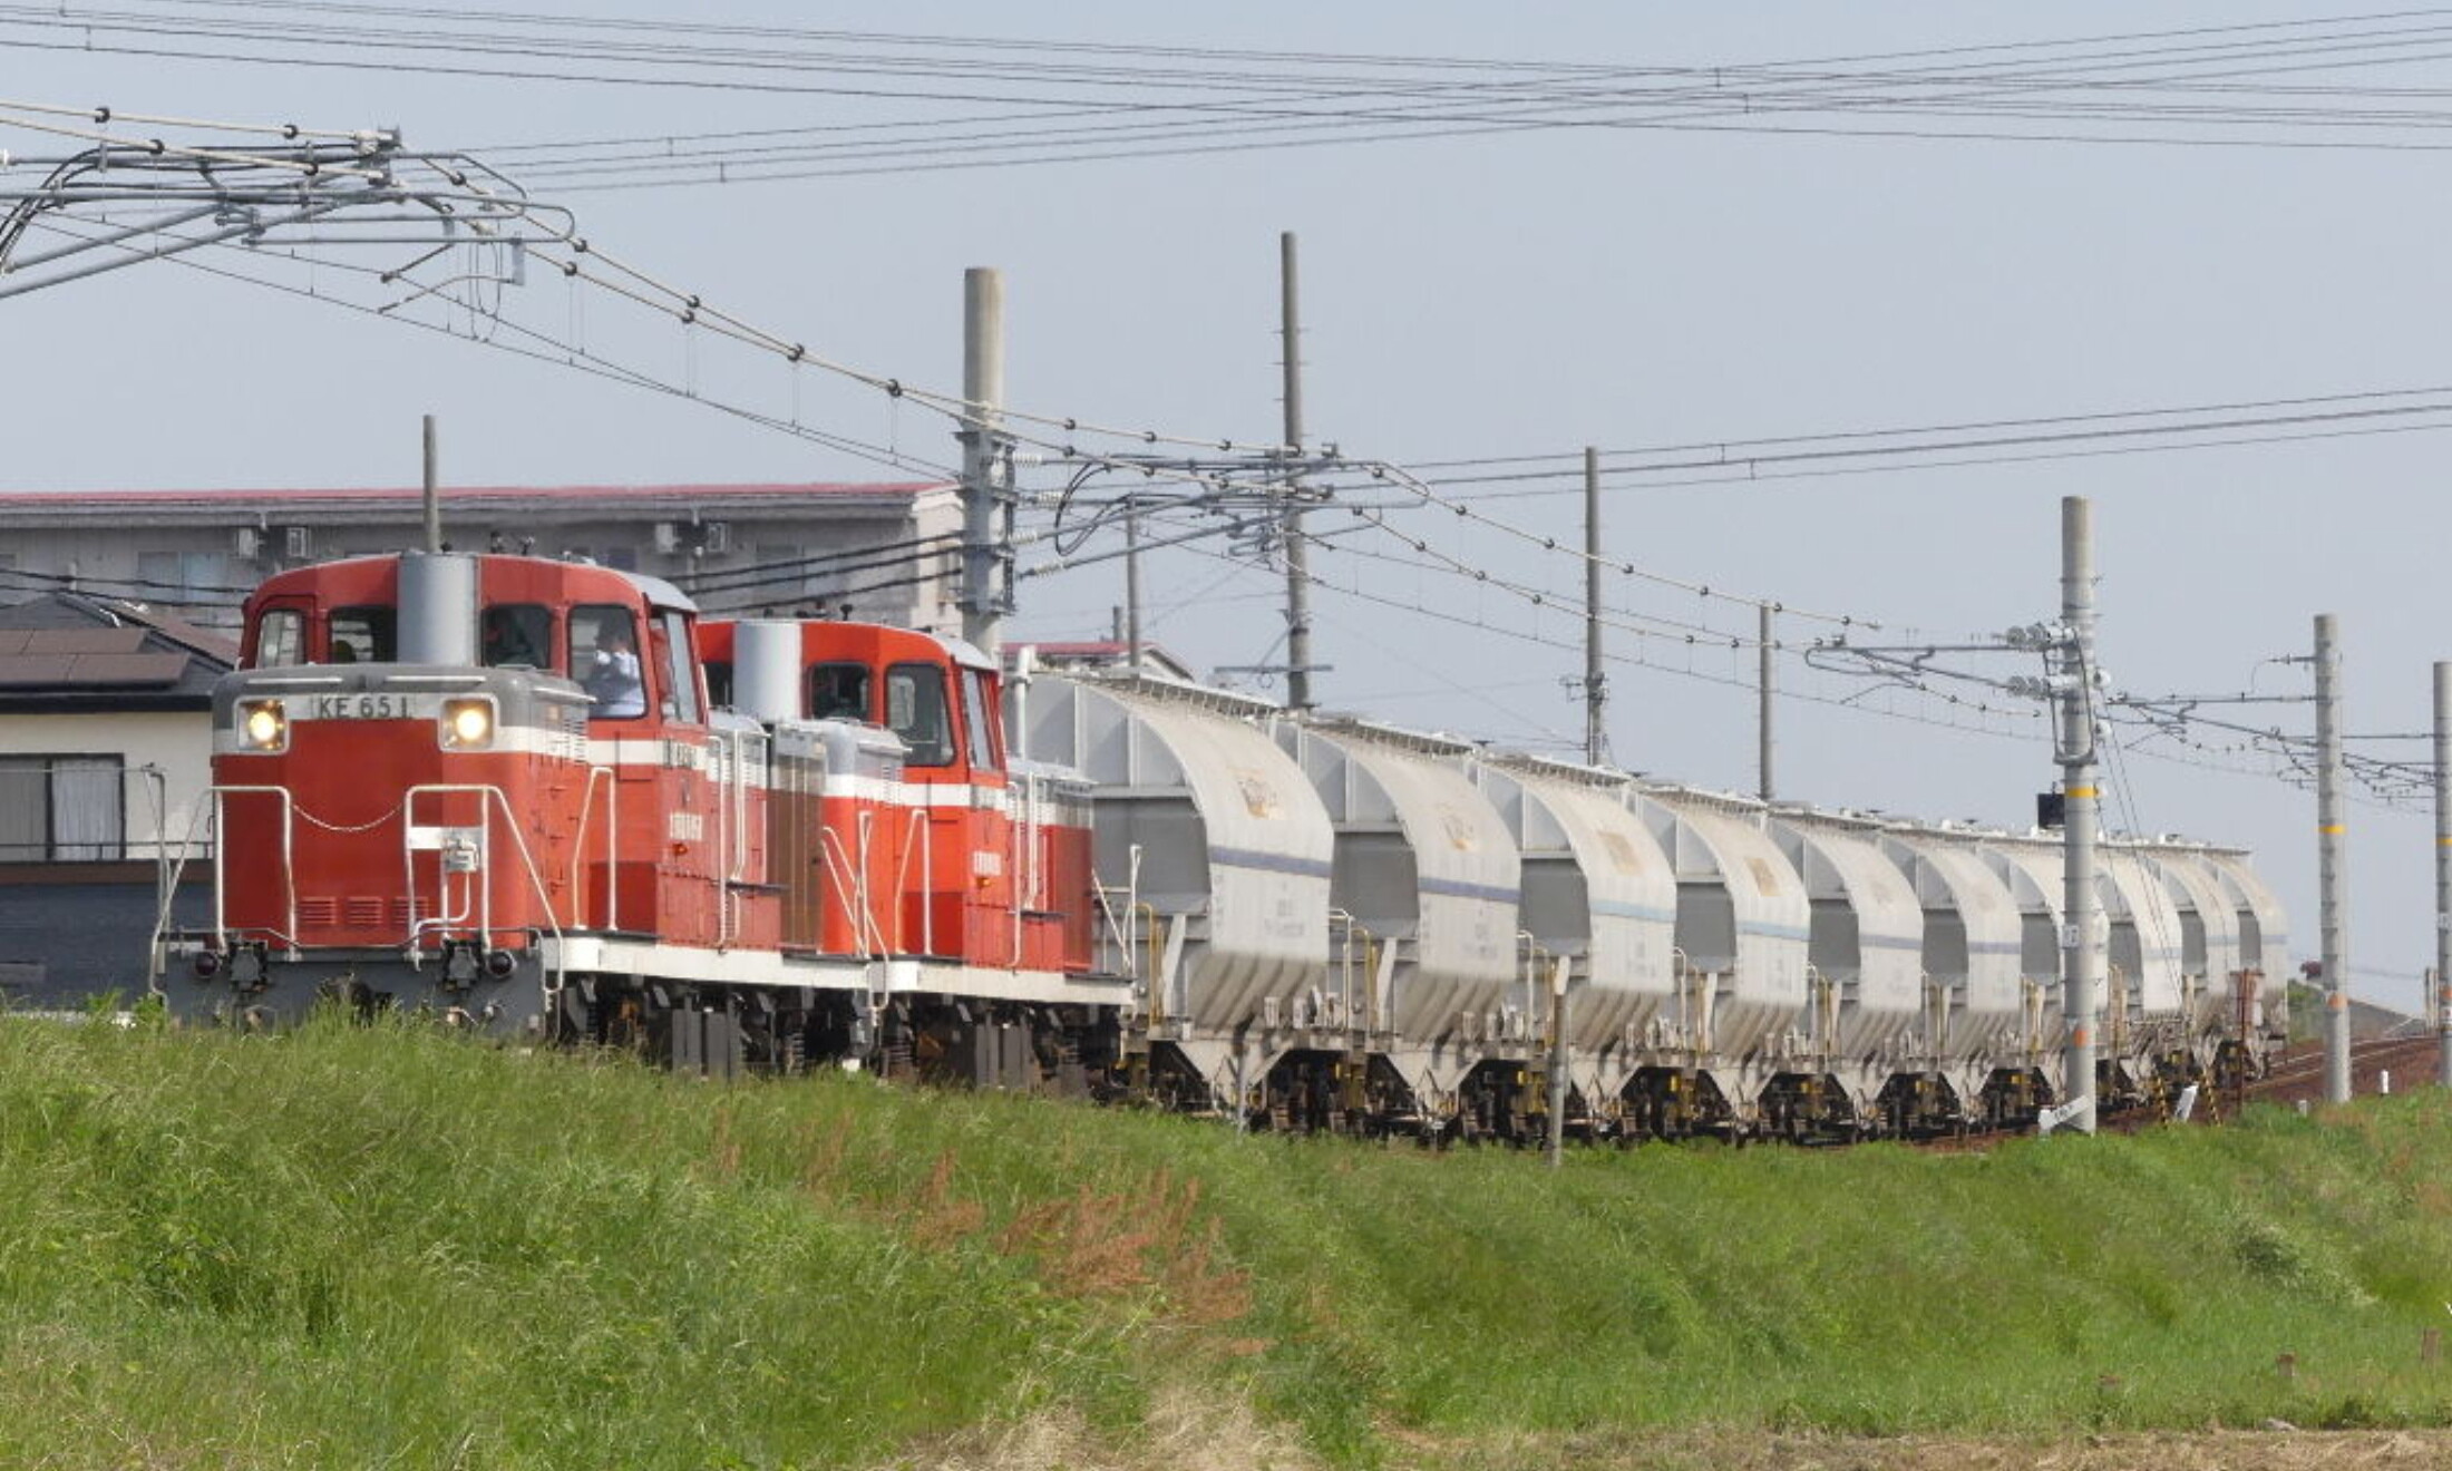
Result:
[[[498,554],[265,581],[174,1015],[412,1008],[1251,1128],[1932,1135],[2057,1096],[2057,846],[1765,807]],[[2104,1111],[2263,1066],[2244,853],[2106,843]]]

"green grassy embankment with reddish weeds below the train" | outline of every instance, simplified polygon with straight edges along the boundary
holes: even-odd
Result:
[[[1133,1459],[1184,1402],[1327,1461],[2452,1422],[2437,1091],[1552,1174],[417,1027],[0,1017],[0,1182],[10,1466],[878,1464],[1052,1415]]]

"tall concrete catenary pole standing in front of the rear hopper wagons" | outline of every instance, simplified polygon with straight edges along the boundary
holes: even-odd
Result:
[[[2101,792],[2094,767],[2094,503],[2067,495],[2060,503],[2060,797],[2062,797],[2062,1017],[2067,1047],[2060,1054],[2065,1106],[2084,1101],[2067,1128],[2094,1133],[2094,1025],[2104,1005],[2104,900],[2094,888],[2094,841]]]

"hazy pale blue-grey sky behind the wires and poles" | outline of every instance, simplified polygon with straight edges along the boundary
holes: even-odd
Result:
[[[0,74],[20,159],[83,147],[27,118],[91,127],[25,103],[181,140],[228,132],[125,118],[397,127],[601,255],[915,387],[959,390],[964,270],[998,267],[1008,402],[1170,454],[1280,436],[1292,230],[1309,439],[1417,483],[1344,476],[1314,515],[1334,522],[1312,552],[1317,694],[1412,728],[1579,748],[1582,564],[1542,539],[1582,537],[1584,446],[1650,451],[1604,461],[1604,549],[1638,569],[1604,603],[1611,753],[1660,777],[1756,787],[1763,598],[1802,610],[1778,618],[1780,797],[2023,826],[2057,777],[2040,706],[1930,679],[1949,704],[1802,645],[1976,645],[2052,618],[2065,495],[2094,507],[2114,689],[2300,696],[2305,662],[2278,659],[2332,613],[2347,728],[2408,736],[2452,657],[2452,392],[2410,392],[2452,382],[2452,12],[59,0],[0,5]],[[809,145],[836,152],[745,152]],[[706,150],[723,181],[691,162]],[[630,311],[537,255],[473,289],[485,311],[429,314],[449,336],[360,309],[380,287],[351,262],[417,248],[306,253],[294,292],[150,262],[0,299],[0,493],[405,485],[419,414],[449,483],[954,458],[915,397]],[[505,351],[549,338],[672,392]],[[1488,478],[1508,473],[1537,478]],[[1032,493],[1064,481],[1022,466]],[[1226,537],[1148,554],[1148,586],[1150,635],[1194,667],[1282,662],[1282,579]],[[1113,559],[1030,576],[1008,637],[1096,637],[1121,601]],[[2001,650],[1935,664],[2040,672]],[[2312,731],[2302,701],[2197,713]],[[2253,848],[2312,954],[2312,794],[2231,731],[2116,731],[2111,826]],[[2435,959],[2430,838],[2423,804],[2349,812],[2351,990],[2386,1005],[2418,1005]]]

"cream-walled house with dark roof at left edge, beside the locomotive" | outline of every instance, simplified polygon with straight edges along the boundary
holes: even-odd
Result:
[[[145,986],[162,880],[208,922],[213,684],[238,645],[145,603],[0,606],[0,993],[64,1005]]]

